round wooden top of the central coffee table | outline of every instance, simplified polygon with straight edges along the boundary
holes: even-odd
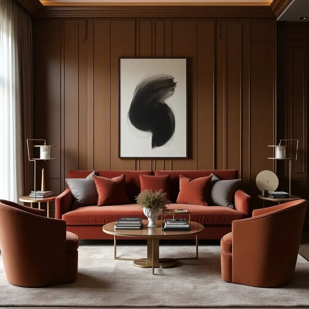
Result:
[[[191,236],[201,233],[204,226],[197,222],[191,221],[191,231],[162,231],[161,220],[157,220],[158,227],[147,227],[148,220],[143,220],[142,230],[115,230],[115,222],[107,223],[103,226],[103,231],[107,234],[127,237],[142,237],[142,238],[171,238],[181,236]]]

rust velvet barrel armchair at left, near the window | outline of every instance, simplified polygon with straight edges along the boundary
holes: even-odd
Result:
[[[0,249],[11,284],[42,287],[74,282],[78,237],[45,210],[0,200]]]

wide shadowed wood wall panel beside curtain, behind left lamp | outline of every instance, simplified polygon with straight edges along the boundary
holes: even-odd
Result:
[[[41,184],[41,169],[44,168],[49,188],[59,194],[61,193],[61,24],[59,21],[37,21],[35,27],[37,32],[34,38],[33,138],[46,139],[49,145],[58,146],[52,149],[52,155],[58,160],[38,162],[36,185]],[[48,31],[50,28],[54,31]]]

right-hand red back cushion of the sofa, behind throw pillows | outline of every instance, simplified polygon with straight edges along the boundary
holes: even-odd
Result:
[[[219,178],[225,179],[225,180],[238,178],[237,170],[155,171],[155,176],[171,174],[170,197],[171,197],[172,203],[176,203],[178,193],[179,193],[179,176],[180,175],[187,177],[187,178],[196,179],[200,177],[210,176],[211,173],[214,173]],[[208,203],[208,205],[210,205],[210,203]]]

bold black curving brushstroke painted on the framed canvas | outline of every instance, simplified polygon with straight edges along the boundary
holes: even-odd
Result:
[[[176,85],[173,76],[158,74],[142,79],[135,88],[128,118],[136,129],[152,134],[152,149],[165,145],[175,133],[175,115],[165,101]]]

